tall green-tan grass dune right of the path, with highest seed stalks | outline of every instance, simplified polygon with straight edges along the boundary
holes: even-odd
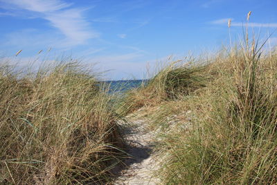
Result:
[[[159,133],[163,184],[277,183],[277,51],[245,33],[212,56],[170,62],[125,98]]]

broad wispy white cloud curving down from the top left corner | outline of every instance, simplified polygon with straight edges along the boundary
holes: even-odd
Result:
[[[66,45],[84,44],[87,39],[99,37],[99,33],[91,29],[89,22],[82,15],[86,9],[71,8],[72,3],[64,3],[60,0],[0,1],[21,10],[39,13],[40,18],[50,21],[50,25],[60,30],[66,37]]]

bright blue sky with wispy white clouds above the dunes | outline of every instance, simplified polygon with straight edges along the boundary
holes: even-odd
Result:
[[[70,55],[107,71],[107,80],[141,79],[169,55],[216,51],[229,32],[238,41],[249,11],[249,28],[273,33],[274,46],[276,7],[276,0],[0,0],[0,57],[24,64]]]

